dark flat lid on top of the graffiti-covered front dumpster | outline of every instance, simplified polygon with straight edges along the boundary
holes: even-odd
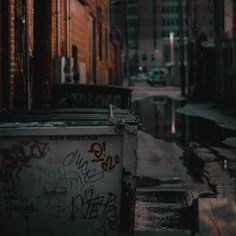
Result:
[[[113,108],[114,116],[130,125],[137,124],[137,117],[130,110]],[[70,127],[108,126],[108,109],[67,108],[0,113],[0,128],[19,127]]]

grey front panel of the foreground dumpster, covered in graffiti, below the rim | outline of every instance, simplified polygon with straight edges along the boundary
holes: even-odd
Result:
[[[0,137],[1,234],[118,236],[122,159],[121,135]]]

